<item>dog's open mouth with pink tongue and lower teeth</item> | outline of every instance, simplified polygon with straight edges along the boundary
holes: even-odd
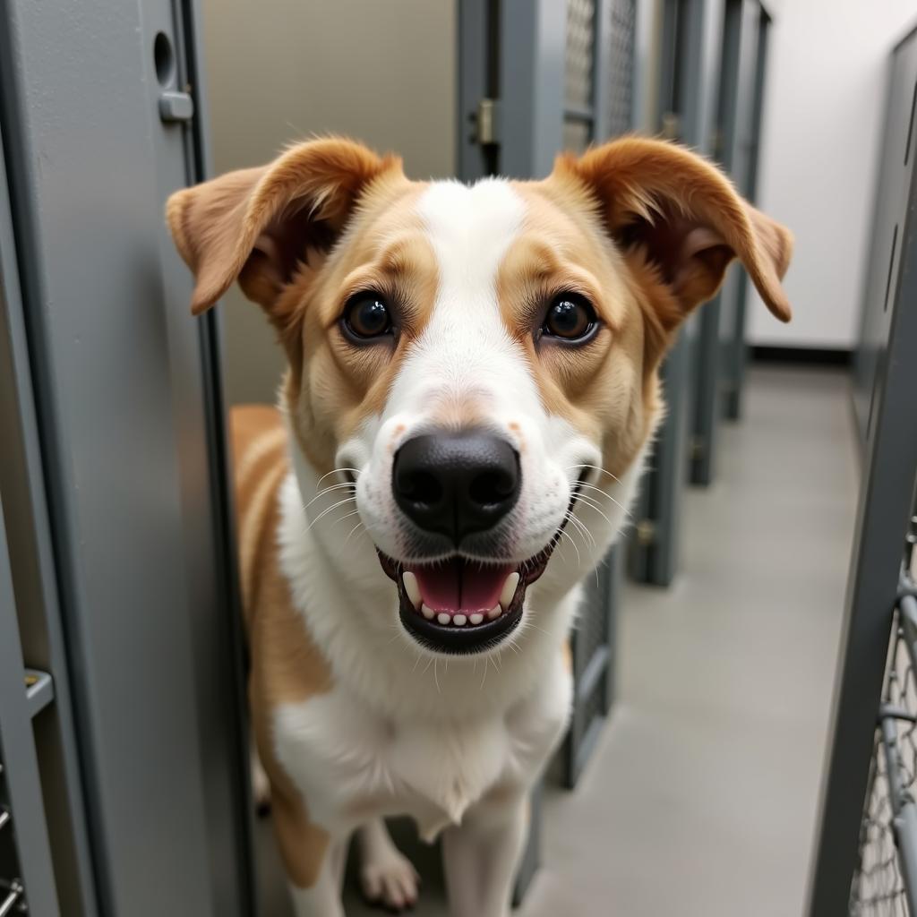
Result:
[[[545,572],[558,539],[518,566],[461,557],[405,566],[381,551],[379,559],[398,587],[402,624],[416,640],[441,653],[478,653],[522,620],[525,590]]]

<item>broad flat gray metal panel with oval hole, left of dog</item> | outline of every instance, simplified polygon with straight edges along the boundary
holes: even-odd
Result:
[[[242,808],[213,741],[236,686],[204,685],[232,626],[205,326],[162,220],[193,179],[190,134],[160,122],[152,52],[161,28],[181,61],[187,19],[168,0],[7,7],[14,215],[100,911],[240,913],[246,867],[224,853],[240,829],[213,822],[220,788],[220,812]]]

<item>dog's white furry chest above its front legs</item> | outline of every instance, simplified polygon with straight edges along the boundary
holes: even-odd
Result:
[[[332,831],[376,815],[414,817],[432,839],[489,790],[524,787],[567,720],[569,679],[504,715],[396,723],[346,689],[275,711],[278,760],[309,818]]]

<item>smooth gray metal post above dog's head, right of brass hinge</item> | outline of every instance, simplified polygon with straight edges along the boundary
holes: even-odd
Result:
[[[566,6],[503,0],[500,172],[543,178],[563,145]]]

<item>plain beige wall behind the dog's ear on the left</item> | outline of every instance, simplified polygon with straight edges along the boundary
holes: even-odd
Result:
[[[338,132],[455,171],[455,0],[204,0],[215,173]],[[230,403],[272,401],[282,356],[257,306],[224,297]]]

